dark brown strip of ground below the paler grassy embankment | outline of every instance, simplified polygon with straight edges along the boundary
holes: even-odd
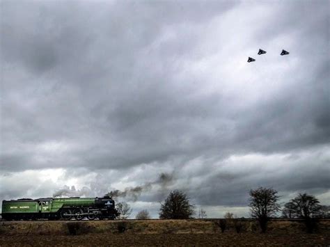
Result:
[[[0,246],[327,246],[322,234],[81,234],[0,236]]]

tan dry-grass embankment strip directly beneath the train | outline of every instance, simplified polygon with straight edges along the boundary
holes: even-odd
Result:
[[[220,233],[219,220],[128,220],[128,221],[0,221],[0,235],[79,235],[79,234],[214,234]],[[240,232],[260,231],[255,220],[240,221]],[[270,221],[268,232],[282,234],[303,233],[303,221]],[[226,232],[236,232],[228,222]],[[330,234],[330,220],[320,220],[317,232]]]

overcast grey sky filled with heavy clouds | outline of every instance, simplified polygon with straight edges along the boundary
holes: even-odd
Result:
[[[0,200],[329,205],[329,4],[1,0]]]

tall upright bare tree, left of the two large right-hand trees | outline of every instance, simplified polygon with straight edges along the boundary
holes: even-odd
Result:
[[[250,204],[251,216],[257,218],[261,232],[266,232],[267,223],[269,218],[276,215],[276,212],[280,211],[280,205],[278,204],[277,191],[272,188],[259,187],[258,189],[250,191]]]

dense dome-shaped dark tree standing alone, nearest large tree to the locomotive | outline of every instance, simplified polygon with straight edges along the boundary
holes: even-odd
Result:
[[[191,218],[194,205],[182,191],[171,191],[159,209],[159,218]]]

